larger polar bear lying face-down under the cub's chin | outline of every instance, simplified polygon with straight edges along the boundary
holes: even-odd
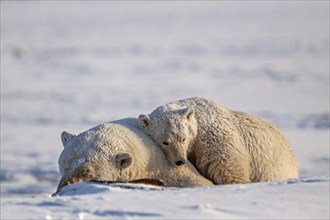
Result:
[[[79,135],[63,132],[58,163],[63,186],[81,181],[161,180],[166,186],[211,186],[192,164],[173,167],[134,118],[104,123]]]

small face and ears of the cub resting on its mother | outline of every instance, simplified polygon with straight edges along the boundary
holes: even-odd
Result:
[[[149,115],[141,114],[139,124],[163,150],[172,165],[181,166],[187,162],[187,152],[197,137],[193,107],[160,107]]]

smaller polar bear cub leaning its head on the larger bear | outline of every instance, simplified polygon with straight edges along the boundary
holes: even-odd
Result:
[[[215,184],[297,178],[287,139],[271,123],[232,111],[213,100],[193,97],[168,103],[139,124],[174,166],[187,158]]]

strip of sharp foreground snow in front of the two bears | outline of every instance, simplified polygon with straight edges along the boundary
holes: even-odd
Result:
[[[194,189],[78,183],[52,198],[5,198],[2,216],[26,218],[33,212],[36,219],[326,219],[328,183],[328,177]]]

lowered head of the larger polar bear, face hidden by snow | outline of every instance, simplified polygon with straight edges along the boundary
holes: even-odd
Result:
[[[77,136],[62,132],[64,150],[58,160],[62,175],[59,188],[87,180],[130,181],[134,178],[134,169],[130,168],[141,151],[137,150],[139,146],[135,145],[132,137],[122,138],[125,133],[124,127],[110,123]],[[140,157],[139,165],[146,163]]]

